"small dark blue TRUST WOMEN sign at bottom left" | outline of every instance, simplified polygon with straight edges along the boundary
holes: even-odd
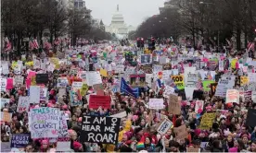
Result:
[[[11,135],[10,147],[22,148],[30,143],[30,134],[14,134]]]

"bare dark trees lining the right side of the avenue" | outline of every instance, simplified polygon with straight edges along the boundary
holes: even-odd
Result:
[[[172,0],[173,5],[159,16],[147,18],[134,32],[135,37],[190,35],[196,42],[215,38],[216,45],[236,38],[237,49],[255,37],[255,0]],[[244,41],[241,41],[241,37]],[[213,40],[213,39],[212,39]]]

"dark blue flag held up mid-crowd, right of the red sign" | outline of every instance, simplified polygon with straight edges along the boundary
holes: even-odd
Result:
[[[120,87],[120,91],[124,92],[125,94],[134,96],[134,98],[138,98],[139,97],[139,88],[131,88],[127,82],[124,80],[124,78],[122,77],[121,80],[121,87]]]

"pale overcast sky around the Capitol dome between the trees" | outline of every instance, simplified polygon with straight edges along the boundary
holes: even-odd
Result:
[[[93,18],[102,19],[109,25],[119,5],[127,25],[138,26],[145,18],[160,13],[159,7],[166,0],[85,0],[85,6],[92,10]]]

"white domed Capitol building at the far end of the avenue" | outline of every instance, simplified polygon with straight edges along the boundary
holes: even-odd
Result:
[[[112,17],[110,25],[106,26],[105,29],[107,32],[114,33],[119,39],[127,38],[128,33],[132,30],[135,30],[133,26],[127,26],[124,23],[122,13],[119,12],[119,5],[117,6],[117,11]]]

